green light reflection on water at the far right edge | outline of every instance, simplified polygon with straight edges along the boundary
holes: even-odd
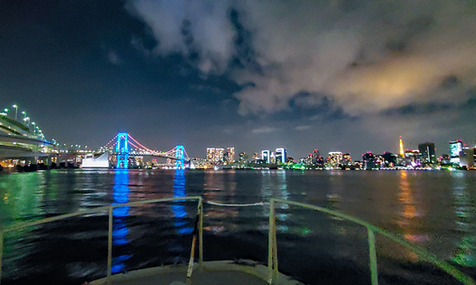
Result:
[[[452,261],[463,266],[476,267],[475,201],[468,189],[469,184],[463,179],[464,174],[454,172],[452,176],[454,176],[452,195],[456,214],[456,230],[462,233],[461,242],[458,243]]]

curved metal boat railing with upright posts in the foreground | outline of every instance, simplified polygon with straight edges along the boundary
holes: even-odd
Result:
[[[42,223],[50,223],[54,221],[63,220],[66,218],[71,218],[75,216],[80,216],[83,214],[94,214],[98,212],[108,211],[109,216],[109,223],[108,223],[108,258],[107,258],[107,283],[111,284],[111,277],[112,277],[112,210],[114,208],[123,207],[123,206],[135,206],[141,204],[153,204],[153,203],[162,203],[162,202],[174,202],[174,201],[198,201],[198,208],[197,208],[197,219],[194,228],[194,238],[192,242],[192,250],[190,252],[190,261],[189,261],[189,271],[187,272],[187,277],[189,278],[192,273],[192,265],[194,261],[195,255],[195,242],[199,240],[199,268],[201,268],[203,263],[203,198],[201,196],[184,196],[184,197],[170,197],[170,198],[162,198],[162,199],[153,199],[153,200],[144,200],[144,201],[136,201],[124,204],[111,204],[108,206],[97,207],[93,209],[81,210],[72,214],[62,214],[53,217],[48,217],[44,219],[40,219],[34,222],[24,222],[24,223],[15,223],[10,225],[4,229],[0,229],[0,283],[2,282],[2,257],[4,252],[4,235],[8,232],[19,231],[23,230],[24,228],[42,224]],[[219,204],[213,202],[206,202],[208,204],[214,205],[222,205],[222,206],[256,206],[256,205],[263,205],[265,203],[257,203],[257,204]],[[316,205],[311,204],[304,204],[299,202],[287,201],[282,199],[275,199],[272,198],[269,201],[269,227],[268,227],[268,259],[267,259],[267,267],[268,267],[268,284],[277,284],[278,283],[278,267],[277,267],[277,226],[276,226],[276,204],[291,204],[296,205],[299,207],[319,211],[325,214],[331,214],[336,217],[340,217],[347,221],[360,224],[367,229],[367,237],[368,237],[368,246],[369,246],[369,267],[370,267],[370,274],[372,285],[378,285],[378,271],[377,271],[377,258],[376,258],[376,251],[375,251],[375,233],[381,234],[384,237],[390,239],[393,242],[397,242],[403,245],[408,250],[418,254],[423,260],[430,261],[432,264],[438,266],[442,271],[446,271],[447,273],[451,274],[456,280],[461,281],[461,283],[465,285],[476,285],[476,282],[471,279],[468,275],[464,274],[452,264],[446,261],[440,261],[434,254],[425,251],[423,248],[416,246],[410,242],[405,241],[403,238],[394,235],[393,233],[388,233],[384,229],[375,226],[372,223],[367,223],[363,220],[355,218],[353,216],[342,214],[335,212],[333,210],[329,210],[327,208],[319,207]]]

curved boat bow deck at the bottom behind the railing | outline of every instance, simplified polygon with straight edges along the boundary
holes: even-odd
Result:
[[[112,275],[113,285],[266,285],[267,267],[256,264],[253,261],[237,263],[234,261],[208,261],[204,262],[203,268],[199,269],[194,265],[194,271],[187,280],[187,265],[168,265],[131,271]],[[107,279],[94,280],[90,285],[108,284]],[[278,284],[302,285],[297,280],[292,280],[288,276],[279,274]]]

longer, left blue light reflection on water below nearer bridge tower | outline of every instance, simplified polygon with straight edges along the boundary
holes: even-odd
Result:
[[[127,169],[116,169],[112,190],[112,198],[114,199],[112,204],[129,202],[129,171]],[[125,224],[125,218],[129,216],[129,208],[130,206],[112,209],[112,245],[116,245],[112,252],[114,250],[123,252],[123,249],[119,246],[124,246],[129,242],[127,239],[129,229]],[[124,271],[124,261],[129,260],[131,257],[132,254],[121,254],[112,257],[112,273]]]

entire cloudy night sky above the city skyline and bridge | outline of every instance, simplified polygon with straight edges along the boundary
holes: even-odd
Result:
[[[99,147],[397,152],[476,139],[471,0],[5,0],[0,106]]]

